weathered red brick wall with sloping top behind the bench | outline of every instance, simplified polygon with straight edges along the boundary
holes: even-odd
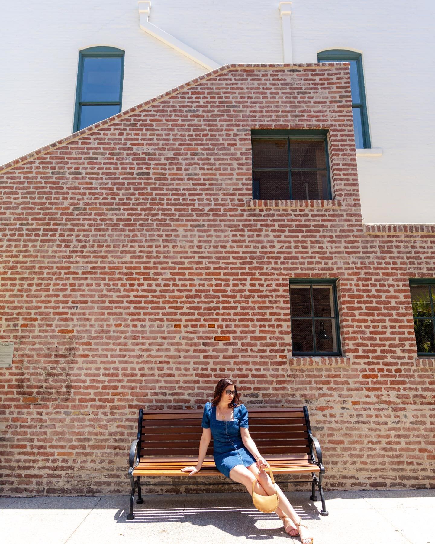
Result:
[[[252,201],[252,128],[329,129],[333,200]],[[434,232],[362,224],[347,66],[227,66],[7,168],[4,494],[126,492],[139,407],[227,375],[309,406],[327,489],[434,485],[408,286]],[[292,357],[289,277],[338,278],[343,357]]]

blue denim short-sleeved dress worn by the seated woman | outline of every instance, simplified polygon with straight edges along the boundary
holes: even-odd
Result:
[[[216,419],[216,406],[206,403],[201,426],[212,431],[213,458],[216,468],[229,478],[229,471],[236,465],[248,467],[255,459],[241,440],[240,427],[248,428],[248,411],[244,404],[233,409],[234,421]]]

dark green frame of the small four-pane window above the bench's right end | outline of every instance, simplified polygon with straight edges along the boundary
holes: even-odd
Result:
[[[290,289],[292,285],[309,285],[310,286],[310,304],[311,304],[311,316],[302,317],[302,316],[293,316],[291,312],[291,294]],[[313,285],[328,285],[332,287],[333,293],[333,305],[334,305],[334,316],[327,317],[315,317],[314,316],[314,301],[313,301]],[[338,298],[337,298],[337,279],[334,278],[322,278],[322,279],[312,279],[312,278],[291,278],[289,280],[289,298],[290,298],[290,329],[291,329],[291,347],[293,355],[295,356],[316,356],[316,357],[331,357],[331,356],[341,356],[341,341],[340,341],[340,319],[338,315]],[[313,335],[313,348],[314,351],[295,351],[294,342],[293,342],[293,320],[294,319],[306,319],[307,322],[311,322],[311,330]],[[315,322],[322,321],[325,319],[334,319],[335,320],[335,331],[336,331],[336,351],[318,351],[316,349],[316,329]]]

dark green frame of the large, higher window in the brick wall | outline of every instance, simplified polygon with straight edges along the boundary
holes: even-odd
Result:
[[[287,139],[288,146],[288,167],[287,168],[260,168],[256,170],[268,170],[268,171],[288,171],[289,175],[289,195],[290,200],[293,200],[293,193],[291,191],[291,171],[318,171],[325,170],[325,168],[291,168],[291,156],[290,156],[290,140],[321,140],[325,144],[325,163],[326,163],[326,177],[328,184],[328,194],[326,200],[332,199],[331,191],[331,175],[330,175],[330,162],[328,154],[328,131],[327,130],[251,130],[251,142],[254,138],[270,138],[270,139]],[[252,146],[252,144],[251,144]],[[259,183],[254,180],[254,164],[252,159],[252,199],[259,200],[260,198],[260,186]],[[321,199],[320,199],[321,200]]]

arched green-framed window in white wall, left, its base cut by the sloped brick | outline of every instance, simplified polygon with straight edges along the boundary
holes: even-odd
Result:
[[[74,132],[121,111],[124,52],[116,47],[80,51]]]

